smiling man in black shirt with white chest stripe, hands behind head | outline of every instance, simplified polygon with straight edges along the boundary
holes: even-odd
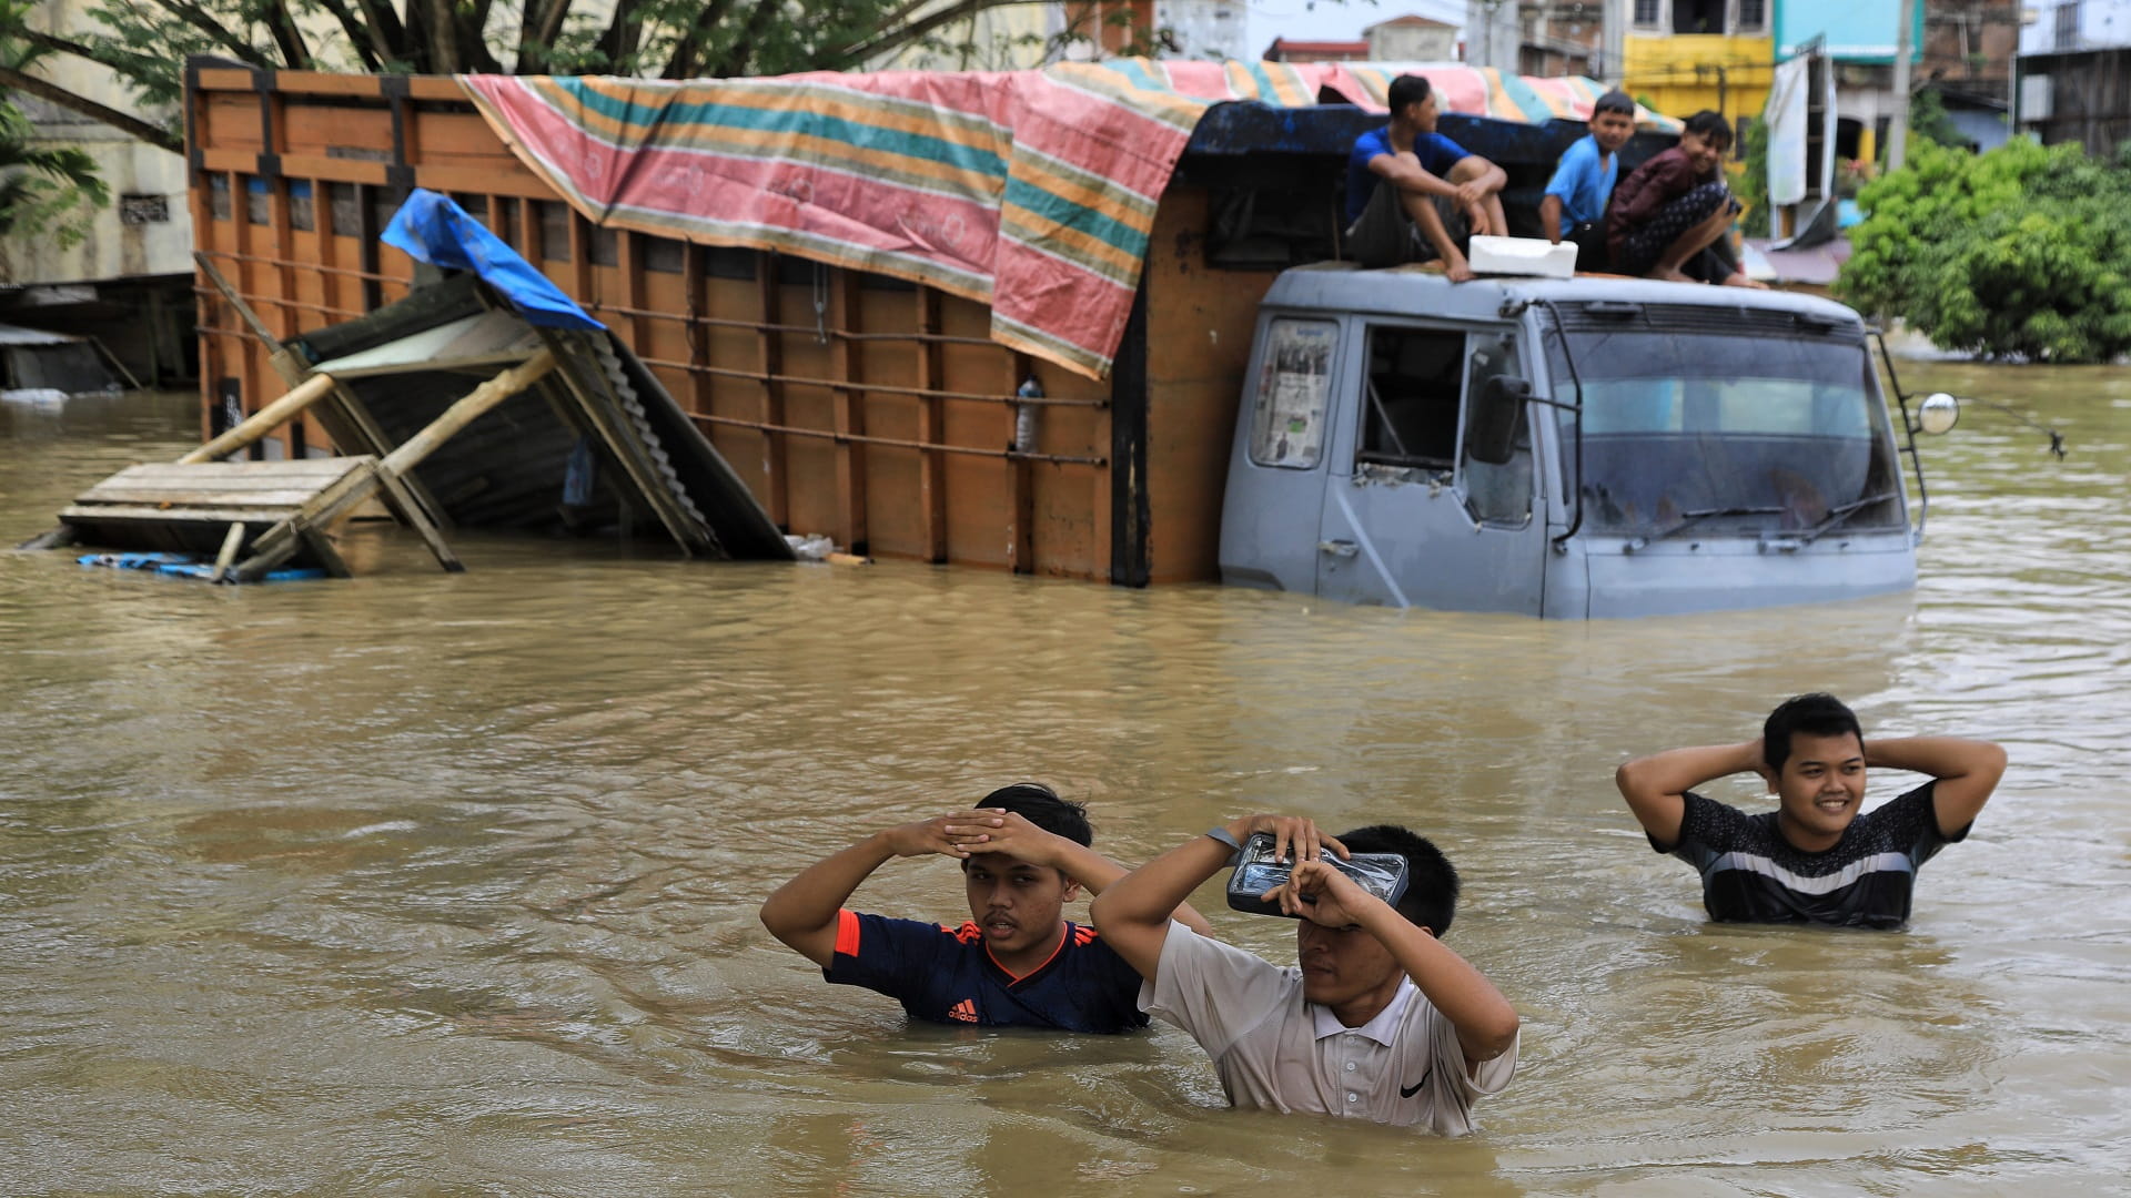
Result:
[[[1867,765],[1931,780],[1858,814]],[[1694,793],[1703,782],[1747,772],[1769,782],[1777,810],[1745,814]],[[1760,740],[1639,757],[1613,782],[1649,833],[1649,846],[1701,872],[1709,919],[1901,927],[1909,921],[1916,870],[1967,838],[2003,774],[2005,750],[1990,742],[1952,735],[1867,742],[1839,699],[1799,695],[1769,712]]]

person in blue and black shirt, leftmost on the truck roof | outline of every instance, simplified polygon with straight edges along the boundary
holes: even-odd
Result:
[[[1473,269],[1460,243],[1509,232],[1509,175],[1436,132],[1428,79],[1392,79],[1389,104],[1392,124],[1364,132],[1347,153],[1347,258],[1364,266],[1441,258],[1451,281],[1462,284]]]

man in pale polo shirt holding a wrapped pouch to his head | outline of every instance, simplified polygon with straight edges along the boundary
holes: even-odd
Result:
[[[1296,861],[1264,897],[1298,917],[1298,966],[1198,936],[1170,921],[1200,883],[1230,865],[1255,831]],[[1321,853],[1398,853],[1406,893],[1392,908]],[[1140,972],[1140,1008],[1206,1049],[1232,1106],[1266,1106],[1473,1130],[1473,1100],[1517,1068],[1517,1013],[1447,949],[1458,872],[1428,840],[1396,825],[1338,838],[1296,816],[1245,816],[1172,848],[1095,897],[1091,917]]]

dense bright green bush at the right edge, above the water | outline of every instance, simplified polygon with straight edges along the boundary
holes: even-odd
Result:
[[[1903,315],[1943,350],[2048,362],[2131,352],[2131,145],[2014,139],[1990,153],[1931,141],[1858,194],[1837,292]]]

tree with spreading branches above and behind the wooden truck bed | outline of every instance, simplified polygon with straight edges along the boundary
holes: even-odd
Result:
[[[607,9],[612,2],[612,11]],[[910,47],[972,58],[957,26],[1038,0],[90,0],[94,32],[32,28],[30,0],[0,0],[11,45],[102,64],[141,102],[177,111],[188,55],[245,66],[390,75],[644,75],[703,79],[857,70]],[[597,13],[592,11],[597,6]],[[1095,41],[1097,9],[1053,41]],[[1106,21],[1129,21],[1108,6]],[[1159,30],[1144,30],[1134,41]],[[6,81],[0,79],[0,85]],[[21,79],[17,79],[21,83]],[[181,149],[175,128],[113,113],[45,83],[47,100]],[[117,119],[115,119],[117,117]],[[132,124],[121,124],[121,122]]]

